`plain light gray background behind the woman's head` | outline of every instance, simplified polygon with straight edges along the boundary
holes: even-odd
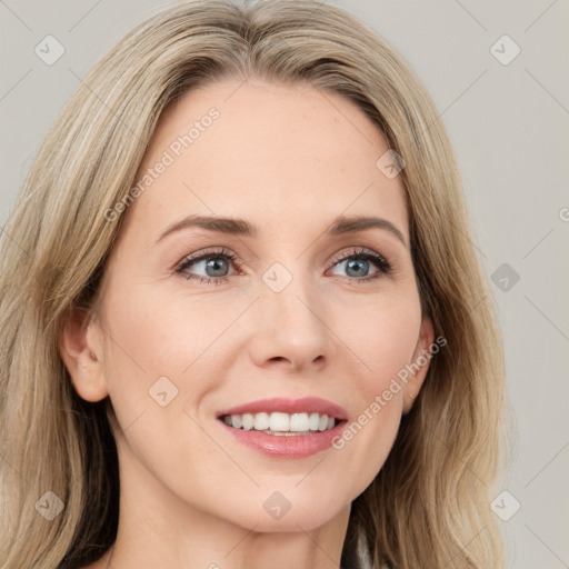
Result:
[[[521,505],[500,521],[508,567],[569,568],[568,1],[329,1],[411,63],[450,133],[479,256],[496,281],[519,425],[516,462],[499,489],[510,493],[498,500],[505,517]],[[172,3],[0,0],[1,226],[79,78]],[[34,53],[48,34],[66,49],[52,66]],[[503,34],[521,49],[509,64],[490,51]],[[495,49],[512,53],[503,42]]]

